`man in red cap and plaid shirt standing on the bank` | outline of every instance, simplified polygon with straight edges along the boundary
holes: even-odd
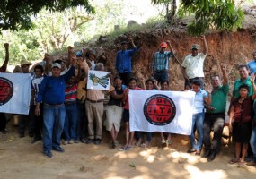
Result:
[[[167,47],[171,49],[171,52],[165,51]],[[154,54],[153,63],[154,80],[158,81],[158,83],[161,81],[169,81],[168,69],[169,61],[172,56],[173,49],[171,42],[169,40],[162,42],[160,44],[160,51]],[[171,60],[171,64],[174,64],[173,60]]]

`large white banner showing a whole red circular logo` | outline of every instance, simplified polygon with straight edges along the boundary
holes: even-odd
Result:
[[[195,93],[129,90],[130,131],[190,135]]]

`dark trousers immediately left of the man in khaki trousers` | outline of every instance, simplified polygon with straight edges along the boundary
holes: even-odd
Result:
[[[77,108],[77,127],[76,127],[76,135],[75,140],[83,140],[87,136],[87,117],[85,112],[85,102],[80,103],[79,101],[76,102]]]

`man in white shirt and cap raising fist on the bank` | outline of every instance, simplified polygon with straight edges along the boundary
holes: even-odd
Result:
[[[205,76],[204,61],[207,56],[208,46],[205,36],[201,36],[200,39],[204,44],[203,53],[199,53],[198,44],[193,44],[191,47],[191,54],[187,55],[182,63],[181,71],[185,79],[185,87],[193,80],[197,79],[201,83],[201,88],[203,88],[203,78]]]

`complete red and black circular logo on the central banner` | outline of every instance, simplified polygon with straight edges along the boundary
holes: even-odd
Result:
[[[157,94],[146,99],[144,115],[151,124],[166,125],[175,117],[176,107],[171,98]]]

